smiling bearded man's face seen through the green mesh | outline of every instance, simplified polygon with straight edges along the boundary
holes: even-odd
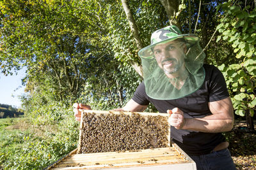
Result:
[[[157,64],[166,74],[176,73],[184,66],[185,51],[186,45],[180,41],[170,41],[154,47]]]

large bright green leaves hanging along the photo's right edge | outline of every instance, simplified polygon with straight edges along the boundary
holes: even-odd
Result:
[[[249,109],[253,116],[256,105],[256,7],[253,2],[249,5],[228,1],[219,8],[224,11],[224,17],[217,27],[221,32],[217,41],[221,38],[228,41],[237,58],[237,63],[222,64],[219,68],[227,80],[236,114],[244,116],[245,110]]]

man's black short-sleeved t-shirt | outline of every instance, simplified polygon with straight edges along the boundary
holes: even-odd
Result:
[[[141,105],[152,103],[160,113],[179,108],[185,118],[202,118],[212,115],[208,103],[227,98],[228,90],[223,74],[215,66],[204,64],[205,80],[192,94],[173,100],[157,100],[147,96],[142,82],[132,99]],[[221,133],[208,133],[188,130],[177,130],[171,127],[171,137],[177,145],[189,155],[202,155],[211,152],[219,143],[225,141]]]

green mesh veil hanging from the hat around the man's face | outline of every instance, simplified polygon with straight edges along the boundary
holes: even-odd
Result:
[[[195,92],[204,83],[205,71],[203,64],[205,53],[199,45],[197,36],[192,34],[179,35],[175,38],[162,40],[160,45],[170,41],[174,42],[173,40],[179,41],[179,39],[186,46],[186,51],[183,52],[182,48],[176,48],[176,50],[179,50],[178,53],[182,53],[184,56],[183,60],[180,59],[183,70],[179,71],[178,69],[178,76],[172,76],[172,73],[166,74],[163,69],[164,66],[159,66],[154,50],[152,50],[154,46],[159,46],[159,43],[147,46],[139,52],[143,66],[145,90],[147,95],[153,99],[179,99]],[[176,62],[172,63],[175,65]]]

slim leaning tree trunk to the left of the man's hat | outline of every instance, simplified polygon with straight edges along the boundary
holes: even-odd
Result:
[[[143,44],[141,43],[138,27],[137,27],[137,25],[135,23],[135,20],[133,18],[133,15],[132,15],[132,12],[131,12],[129,4],[127,3],[127,0],[122,0],[122,6],[124,8],[125,15],[126,15],[127,20],[129,22],[133,38],[136,41],[137,48],[140,50],[141,48],[143,48]],[[135,69],[135,71],[138,74],[140,74],[141,77],[143,77],[142,67],[139,66],[136,62],[131,62],[131,65]]]

